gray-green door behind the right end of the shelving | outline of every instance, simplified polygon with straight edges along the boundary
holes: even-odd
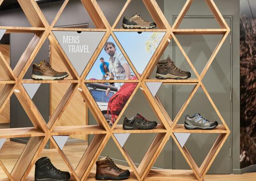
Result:
[[[226,23],[232,28],[232,17],[225,17]],[[202,23],[203,27],[210,27],[216,23],[213,16],[186,16],[185,27],[179,28],[197,28],[196,23]],[[183,24],[184,26],[184,24]],[[232,31],[231,31],[232,32]],[[202,72],[205,64],[207,63],[209,57],[214,51],[216,45],[218,44],[222,35],[177,35],[177,39],[183,46],[185,52],[196,68],[198,74]],[[231,41],[228,36],[225,43],[220,48],[217,56],[212,62],[210,68],[202,79],[203,85],[208,90],[209,95],[213,99],[216,107],[218,108],[220,114],[225,120],[226,124],[231,125]],[[182,70],[189,70],[191,72],[191,78],[196,79],[192,69],[189,67],[184,56],[179,50],[177,45],[173,46],[174,56],[173,59],[177,65]],[[180,107],[185,102],[186,97],[191,92],[194,85],[175,85],[174,87],[174,113],[177,115]],[[194,115],[194,113],[201,113],[202,116],[210,121],[217,120],[219,124],[221,121],[217,114],[215,113],[213,107],[208,101],[207,97],[202,90],[196,92],[195,96],[192,98],[191,103],[186,108],[185,114]],[[178,124],[184,124],[184,115],[180,118]],[[202,161],[206,157],[209,149],[212,147],[217,134],[191,134],[186,142],[186,146],[189,148],[191,155],[195,159],[198,166],[202,164]],[[231,136],[228,137],[223,147],[220,149],[219,154],[215,158],[212,166],[208,170],[208,174],[230,174],[231,170],[231,157],[230,157],[230,147],[231,147]],[[173,169],[190,169],[189,165],[185,161],[185,158],[179,151],[179,148],[174,146],[174,168]]]

